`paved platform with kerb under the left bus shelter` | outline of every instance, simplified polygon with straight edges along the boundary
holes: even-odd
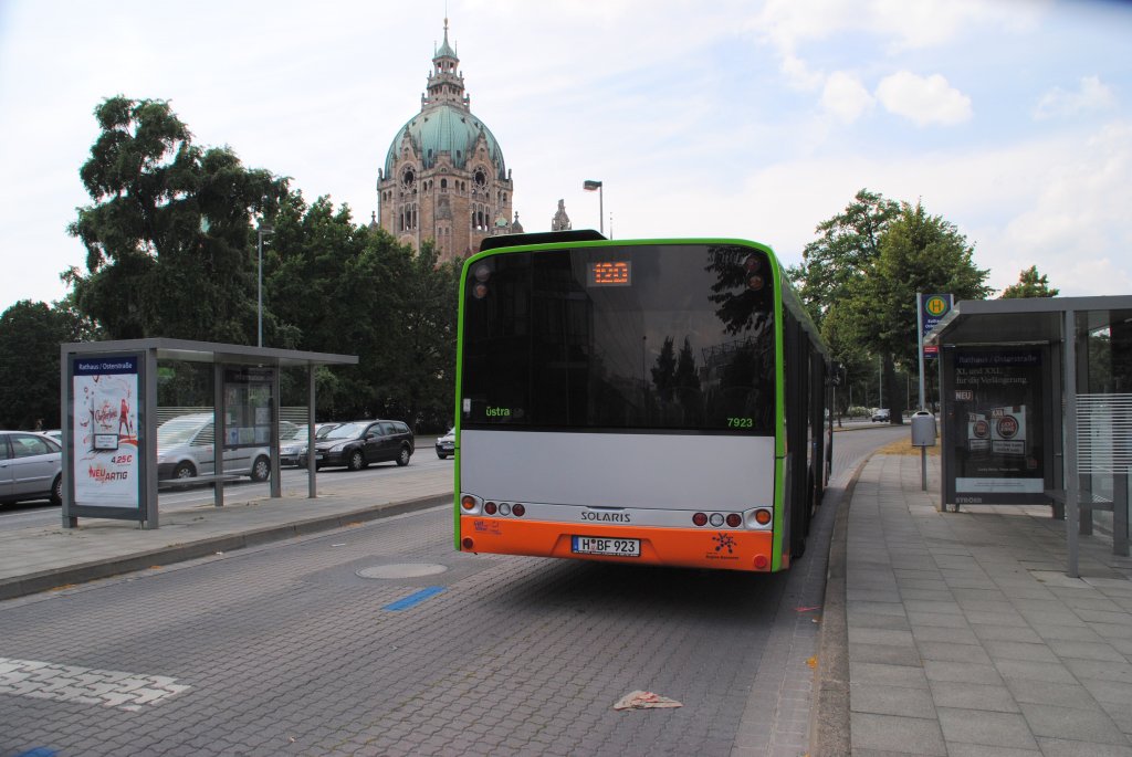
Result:
[[[152,531],[137,522],[101,518],[80,518],[78,528],[55,522],[0,531],[0,600],[451,501],[452,471],[438,468],[383,479],[358,493],[309,499],[303,482],[280,499],[162,510],[161,527]]]

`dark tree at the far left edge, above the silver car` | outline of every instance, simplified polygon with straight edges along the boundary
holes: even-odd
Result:
[[[0,313],[0,428],[60,428],[59,345],[87,328],[66,300],[20,300]]]

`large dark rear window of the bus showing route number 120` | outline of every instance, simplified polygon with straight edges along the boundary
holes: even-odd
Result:
[[[773,433],[773,276],[757,249],[504,252],[465,286],[465,428]]]

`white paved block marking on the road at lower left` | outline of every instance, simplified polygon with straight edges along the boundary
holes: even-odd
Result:
[[[145,676],[37,660],[0,657],[0,694],[138,712],[189,690],[168,676]]]

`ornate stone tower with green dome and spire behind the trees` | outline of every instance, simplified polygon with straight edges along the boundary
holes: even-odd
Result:
[[[414,250],[436,240],[440,260],[513,233],[511,172],[491,130],[472,115],[458,67],[445,18],[421,111],[394,137],[377,178],[381,227]]]

